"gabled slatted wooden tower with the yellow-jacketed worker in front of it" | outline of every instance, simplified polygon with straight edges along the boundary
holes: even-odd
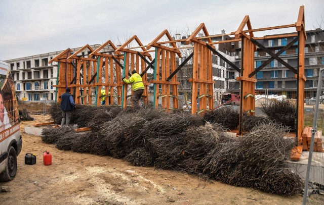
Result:
[[[129,46],[129,44],[133,41],[136,41],[138,43],[137,47],[131,47],[131,48],[125,48]],[[141,48],[142,52],[138,52],[136,50],[133,50],[134,48]],[[146,66],[149,65],[150,62],[146,59],[148,58],[150,61],[152,61],[151,55],[148,54],[145,46],[142,44],[142,42],[139,40],[139,38],[134,35],[129,40],[127,40],[123,45],[118,47],[115,52],[124,52],[124,66],[119,65],[121,68],[123,68],[123,74],[122,76],[128,79],[131,74],[130,72],[132,70],[136,70],[137,73],[141,73],[143,84],[144,84],[144,93],[142,95],[144,104],[148,104],[148,85],[150,83],[147,82],[147,74],[146,74]],[[145,72],[144,72],[145,71]],[[126,75],[128,72],[128,75]],[[128,84],[123,83],[123,89],[121,91],[121,107],[126,109],[127,107],[127,98],[132,95],[127,95],[128,93]],[[133,90],[132,90],[133,93]]]

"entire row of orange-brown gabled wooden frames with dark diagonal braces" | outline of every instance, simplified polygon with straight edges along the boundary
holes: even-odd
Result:
[[[248,27],[248,30],[244,30],[245,27]],[[254,32],[258,31],[266,31],[273,29],[282,29],[282,28],[291,28],[295,27],[297,30],[297,34],[282,34],[282,35],[271,35],[264,37],[255,37]],[[205,36],[204,37],[196,37],[197,34],[203,30]],[[234,35],[234,38],[231,40],[224,40],[218,42],[212,42],[213,37],[219,36],[230,36]],[[168,41],[158,42],[162,37],[166,36]],[[295,37],[291,42],[289,42],[286,46],[281,48],[277,53],[271,52],[270,49],[263,46],[257,40],[259,39],[268,39],[268,38],[287,38],[287,37]],[[136,47],[129,47],[130,43],[135,40],[138,43]],[[232,62],[222,56],[214,47],[214,44],[218,43],[227,43],[227,42],[235,42],[241,41],[241,68],[235,66]],[[193,43],[193,53],[190,54],[181,65],[176,68],[176,55],[181,57],[181,53],[179,49],[182,47],[177,47],[176,42],[185,42],[186,44]],[[219,58],[224,60],[228,65],[230,65],[233,69],[240,73],[240,76],[236,78],[236,80],[240,81],[240,110],[239,110],[239,134],[242,134],[241,124],[243,120],[243,115],[248,113],[249,115],[254,115],[255,112],[255,83],[257,80],[255,79],[255,75],[257,72],[262,70],[266,65],[268,65],[272,60],[277,60],[282,65],[286,66],[292,72],[296,74],[297,79],[297,131],[296,131],[296,142],[300,144],[302,142],[302,132],[304,126],[304,84],[306,81],[306,77],[304,76],[305,62],[304,62],[304,47],[306,42],[306,31],[305,31],[305,21],[304,21],[304,6],[301,6],[299,9],[299,15],[297,22],[295,24],[289,25],[281,25],[281,26],[273,26],[267,28],[258,28],[253,29],[249,16],[246,16],[242,22],[240,23],[238,29],[234,32],[228,34],[219,34],[219,35],[209,35],[208,30],[204,23],[201,23],[198,28],[187,38],[187,39],[172,39],[170,33],[167,30],[161,32],[151,43],[148,45],[143,45],[141,41],[138,39],[136,35],[131,37],[128,41],[126,41],[123,45],[116,47],[110,42],[107,41],[102,46],[100,46],[95,51],[89,45],[84,46],[79,49],[75,54],[72,54],[72,51],[68,48],[64,50],[57,57],[52,59],[50,62],[57,61],[59,62],[58,66],[58,83],[56,85],[58,91],[57,94],[62,94],[65,92],[66,87],[71,87],[76,96],[76,103],[83,103],[82,89],[78,89],[79,87],[84,87],[84,92],[88,90],[88,104],[91,105],[91,93],[92,88],[96,87],[96,106],[99,105],[99,89],[102,86],[105,86],[106,92],[110,90],[112,92],[114,87],[117,89],[117,97],[118,97],[118,105],[120,104],[124,109],[127,106],[127,92],[128,85],[121,82],[121,76],[128,78],[130,76],[130,71],[135,69],[138,73],[141,73],[145,92],[144,92],[144,103],[148,103],[148,85],[150,83],[147,82],[147,74],[146,71],[149,68],[154,69],[154,80],[151,81],[154,85],[154,108],[158,108],[158,97],[161,97],[162,108],[166,110],[170,110],[173,108],[178,108],[178,89],[177,86],[179,82],[177,82],[177,72],[189,61],[189,59],[193,58],[193,73],[190,82],[192,82],[192,109],[191,113],[201,113],[207,111],[208,108],[213,108],[213,75],[212,75],[212,62],[211,62],[211,52],[214,55],[217,55]],[[170,43],[170,46],[165,46],[163,44]],[[293,66],[286,63],[279,56],[285,50],[287,50],[294,43],[298,43],[298,66],[297,69]],[[100,53],[100,49],[102,49],[106,45],[110,45],[112,49],[109,51],[111,54]],[[254,52],[257,46],[264,50],[269,56],[266,62],[264,62],[260,67],[254,68]],[[145,48],[146,47],[146,48]],[[151,47],[155,47],[155,50],[148,50]],[[92,50],[90,58],[85,58],[83,56],[77,56],[83,49],[88,48]],[[142,51],[139,52],[134,50],[135,48],[141,48]],[[187,48],[187,47],[184,47]],[[108,52],[108,53],[109,53]],[[114,52],[114,55],[112,55]],[[122,54],[121,52],[124,52]],[[155,59],[152,60],[149,52],[155,52]],[[124,56],[124,58],[123,58]],[[94,57],[94,58],[92,58]],[[97,59],[95,59],[97,58]],[[121,60],[124,59],[124,65],[121,64]],[[90,63],[97,67],[95,71],[92,69]],[[154,66],[153,66],[154,64]],[[104,76],[105,82],[102,83],[102,67],[109,68],[110,73]],[[84,77],[83,74],[86,74],[84,71],[87,68],[87,76]],[[113,70],[114,68],[115,70]],[[121,74],[121,70],[123,69],[123,74]],[[73,73],[74,69],[74,73]],[[115,82],[111,81],[113,72],[116,73]],[[128,75],[127,75],[128,72]],[[121,76],[119,76],[119,74]],[[90,77],[91,76],[91,77]],[[96,82],[94,83],[94,78],[97,77]],[[109,82],[110,78],[110,82]],[[74,83],[73,83],[74,82]],[[87,83],[85,83],[87,82]],[[161,84],[161,94],[159,94],[159,84]],[[122,85],[123,88],[120,88]],[[121,99],[119,100],[121,92]],[[111,101],[113,101],[113,97],[109,96]],[[170,97],[173,98],[173,108],[170,106]],[[199,99],[199,108],[196,107],[197,99]],[[112,103],[111,103],[112,104]]]

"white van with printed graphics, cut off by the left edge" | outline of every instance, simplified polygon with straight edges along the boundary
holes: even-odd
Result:
[[[16,176],[21,147],[15,85],[9,65],[0,61],[0,181],[10,181]]]

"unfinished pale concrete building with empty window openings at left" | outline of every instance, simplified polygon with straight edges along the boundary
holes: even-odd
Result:
[[[93,49],[100,45],[91,45]],[[81,47],[71,48],[73,52]],[[49,64],[49,61],[59,55],[63,50],[29,57],[11,59],[5,61],[10,65],[17,98],[19,100],[38,101],[46,98],[55,100],[55,87],[57,84],[57,62]],[[86,54],[90,50],[85,50]],[[85,52],[82,55],[85,55]]]

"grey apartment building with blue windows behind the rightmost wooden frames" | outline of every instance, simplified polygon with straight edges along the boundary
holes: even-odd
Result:
[[[315,97],[318,83],[319,69],[324,67],[324,30],[315,29],[306,31],[307,41],[305,45],[305,98]],[[271,36],[271,35],[268,35]],[[270,49],[273,53],[278,52],[282,47],[286,46],[294,37],[273,38],[266,40],[258,40],[262,45]],[[240,67],[240,41],[238,42],[235,53],[235,65]],[[255,69],[267,61],[270,56],[260,48],[254,54]],[[289,65],[297,69],[298,61],[298,43],[296,42],[284,53],[280,58]],[[234,76],[238,76],[232,68],[227,68],[228,72],[234,72]],[[255,78],[257,94],[277,94],[286,95],[288,98],[296,98],[297,96],[297,80],[295,74],[281,65],[277,60],[271,61],[265,68],[259,71]],[[232,86],[227,87],[228,91],[239,94],[239,82],[232,80]]]

